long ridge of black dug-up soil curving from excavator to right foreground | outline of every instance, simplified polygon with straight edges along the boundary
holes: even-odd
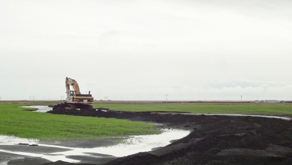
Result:
[[[101,109],[101,108],[100,108]],[[292,164],[292,121],[264,117],[206,116],[83,110],[50,113],[112,117],[164,124],[192,132],[166,147],[120,157],[106,165]],[[58,164],[56,162],[51,164]]]

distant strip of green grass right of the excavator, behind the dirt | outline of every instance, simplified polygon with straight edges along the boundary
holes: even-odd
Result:
[[[287,104],[93,104],[122,111],[170,111],[210,114],[292,114],[292,105]]]

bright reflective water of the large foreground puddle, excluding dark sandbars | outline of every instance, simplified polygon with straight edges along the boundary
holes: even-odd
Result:
[[[96,154],[107,154],[113,155],[116,157],[123,157],[131,154],[135,154],[138,152],[147,152],[151,151],[152,148],[155,147],[164,147],[170,144],[171,140],[180,139],[187,136],[190,131],[185,130],[168,130],[159,135],[141,135],[141,136],[131,136],[129,139],[123,140],[118,145],[108,146],[108,147],[96,147],[96,148],[78,148],[78,147],[64,147],[58,145],[46,145],[41,144],[38,140],[32,139],[24,139],[24,138],[15,138],[14,136],[0,136],[0,152],[12,153],[12,154],[20,154],[25,156],[32,156],[32,157],[41,157],[44,159],[48,159],[50,161],[67,161],[76,163],[79,160],[68,159],[66,156],[92,156],[93,153]],[[36,153],[31,152],[17,152],[11,150],[3,150],[1,149],[1,145],[18,145],[18,143],[29,143],[29,144],[37,144],[39,146],[44,147],[55,147],[55,148],[63,148],[68,149],[67,151],[62,152],[51,152],[46,154],[38,154],[37,150]],[[98,140],[97,140],[98,143]],[[19,145],[23,146],[23,145]],[[88,154],[91,153],[91,154]],[[98,157],[98,156],[95,156]]]

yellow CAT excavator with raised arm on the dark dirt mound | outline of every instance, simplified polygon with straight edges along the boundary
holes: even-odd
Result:
[[[88,92],[88,94],[81,94],[77,81],[68,77],[66,77],[65,84],[67,91],[65,109],[92,108],[92,105],[90,104],[93,104],[93,97],[90,94],[90,91]],[[73,90],[70,90],[70,86],[73,87]]]

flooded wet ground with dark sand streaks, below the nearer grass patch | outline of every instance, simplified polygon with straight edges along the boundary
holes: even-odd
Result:
[[[44,158],[49,161],[67,161],[72,163],[81,162],[81,157],[123,157],[138,152],[151,151],[155,147],[164,147],[170,144],[171,140],[187,136],[190,131],[173,129],[167,130],[159,135],[131,136],[121,143],[109,146],[94,147],[92,143],[101,143],[102,140],[86,140],[91,146],[75,142],[40,142],[14,136],[0,136],[0,152],[18,154],[29,157]],[[107,143],[103,143],[107,144]],[[29,146],[37,145],[37,146]],[[82,147],[81,147],[82,146]],[[94,155],[94,156],[93,156]],[[101,156],[103,155],[103,156]],[[69,159],[70,158],[70,159]],[[83,161],[84,162],[84,161]],[[90,162],[90,161],[88,161]],[[93,163],[93,162],[90,162]]]

